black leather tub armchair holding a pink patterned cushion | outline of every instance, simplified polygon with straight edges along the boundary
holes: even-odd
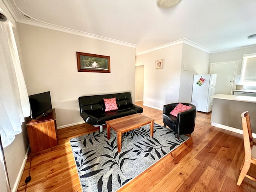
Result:
[[[170,112],[178,104],[179,103],[172,103],[164,105],[163,123],[164,127],[170,127],[177,134],[177,138],[179,139],[180,135],[193,133],[196,121],[196,106],[191,103],[182,103],[183,105],[192,106],[192,108],[188,111],[178,113],[177,117],[175,117],[171,115]]]

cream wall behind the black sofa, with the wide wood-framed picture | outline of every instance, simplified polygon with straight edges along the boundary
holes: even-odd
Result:
[[[28,94],[51,92],[57,126],[84,122],[78,97],[126,92],[135,100],[135,48],[18,24]],[[77,72],[76,52],[110,56],[111,73]]]

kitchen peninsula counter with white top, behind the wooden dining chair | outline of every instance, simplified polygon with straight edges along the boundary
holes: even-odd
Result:
[[[223,94],[211,97],[211,125],[242,134],[241,113],[249,111],[253,137],[256,138],[256,97]]]

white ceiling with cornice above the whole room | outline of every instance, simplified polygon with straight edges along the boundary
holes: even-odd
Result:
[[[136,47],[179,41],[208,53],[256,46],[256,0],[3,0],[16,21]]]

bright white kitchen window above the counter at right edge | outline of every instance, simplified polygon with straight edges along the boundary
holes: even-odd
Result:
[[[256,53],[243,55],[240,84],[256,86]]]

